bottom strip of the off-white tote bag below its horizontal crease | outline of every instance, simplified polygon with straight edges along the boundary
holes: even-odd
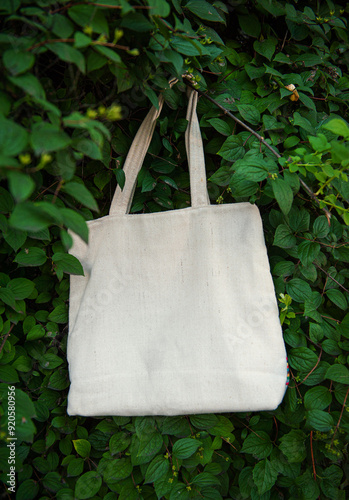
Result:
[[[276,373],[154,372],[72,382],[69,415],[189,415],[273,410],[286,390],[285,369]],[[280,373],[283,373],[280,375]]]

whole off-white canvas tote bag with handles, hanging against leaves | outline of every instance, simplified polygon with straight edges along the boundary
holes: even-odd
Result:
[[[140,126],[109,215],[72,233],[68,414],[272,410],[287,362],[259,210],[210,205],[198,95],[186,131],[191,207],[129,215],[159,109]]]

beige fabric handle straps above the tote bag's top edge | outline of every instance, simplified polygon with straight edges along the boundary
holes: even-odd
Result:
[[[169,82],[170,87],[176,82],[177,79],[171,80]],[[189,88],[188,99],[188,126],[185,132],[185,147],[189,165],[191,206],[202,207],[209,205],[210,200],[207,192],[204,148],[196,114],[198,93]],[[156,120],[161,113],[163,103],[164,97],[161,94],[159,96],[159,109],[153,106],[137,131],[124,164],[125,185],[123,190],[121,190],[120,186],[117,186],[110,205],[109,215],[124,215],[130,211],[137,176],[147,154]]]

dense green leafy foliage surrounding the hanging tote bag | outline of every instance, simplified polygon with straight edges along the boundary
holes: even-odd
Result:
[[[345,499],[348,13],[330,0],[0,2],[0,461],[8,484],[14,386],[18,500]],[[200,94],[211,202],[263,217],[289,388],[260,414],[68,417],[69,274],[82,268],[67,229],[87,241],[85,221],[108,213],[161,91],[132,212],[188,206],[185,72],[264,139]]]

